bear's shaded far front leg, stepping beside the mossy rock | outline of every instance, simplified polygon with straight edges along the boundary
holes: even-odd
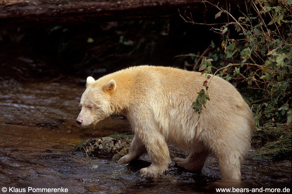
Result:
[[[123,156],[119,160],[119,162],[129,163],[133,160],[139,159],[139,157],[145,153],[146,153],[145,146],[143,145],[140,138],[137,135],[135,135],[129,147],[129,153],[126,156]]]

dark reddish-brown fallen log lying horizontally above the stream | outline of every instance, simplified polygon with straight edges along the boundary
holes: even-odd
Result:
[[[226,5],[226,0],[221,1]],[[237,5],[244,1],[227,3]],[[178,9],[202,14],[206,6],[211,7],[207,4],[202,0],[0,0],[0,24],[165,17],[178,15]]]

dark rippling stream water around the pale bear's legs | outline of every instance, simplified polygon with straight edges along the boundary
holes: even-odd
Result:
[[[209,157],[202,174],[171,165],[167,174],[141,177],[149,158],[126,165],[111,159],[89,160],[74,146],[91,137],[127,132],[127,120],[107,118],[81,129],[75,123],[85,90],[75,78],[49,81],[0,80],[0,186],[68,188],[88,193],[216,193],[215,188],[285,188],[291,183],[291,161],[261,160],[250,151],[240,184],[220,183],[216,158]],[[185,155],[171,147],[171,157]],[[290,187],[291,188],[291,187]],[[8,193],[8,192],[7,192]]]

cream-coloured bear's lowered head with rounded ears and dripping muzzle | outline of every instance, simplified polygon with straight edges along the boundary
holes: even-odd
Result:
[[[76,119],[77,124],[80,127],[95,125],[100,120],[110,116],[112,114],[110,96],[115,89],[116,82],[114,80],[101,84],[100,81],[88,77],[86,90],[80,100],[81,112]]]

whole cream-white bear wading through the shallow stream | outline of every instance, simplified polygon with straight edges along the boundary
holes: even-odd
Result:
[[[162,174],[171,162],[167,144],[189,150],[186,159],[174,162],[189,171],[200,171],[213,152],[219,160],[222,181],[241,181],[240,164],[250,147],[253,113],[236,88],[214,76],[210,100],[200,117],[192,102],[203,87],[205,75],[178,68],[136,66],[106,75],[88,77],[76,120],[79,126],[95,125],[111,114],[127,116],[134,132],[128,163],[143,154],[151,165],[143,175]]]

